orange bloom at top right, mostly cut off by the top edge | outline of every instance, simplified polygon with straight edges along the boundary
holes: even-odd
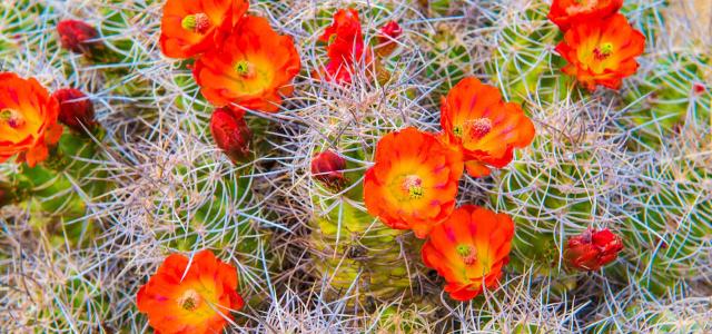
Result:
[[[623,7],[623,0],[554,0],[548,19],[563,31],[575,22],[605,19]]]

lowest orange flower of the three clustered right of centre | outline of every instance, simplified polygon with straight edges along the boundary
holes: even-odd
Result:
[[[468,301],[497,286],[510,262],[514,223],[506,214],[465,205],[436,226],[423,245],[423,262],[445,277],[445,292]]]

